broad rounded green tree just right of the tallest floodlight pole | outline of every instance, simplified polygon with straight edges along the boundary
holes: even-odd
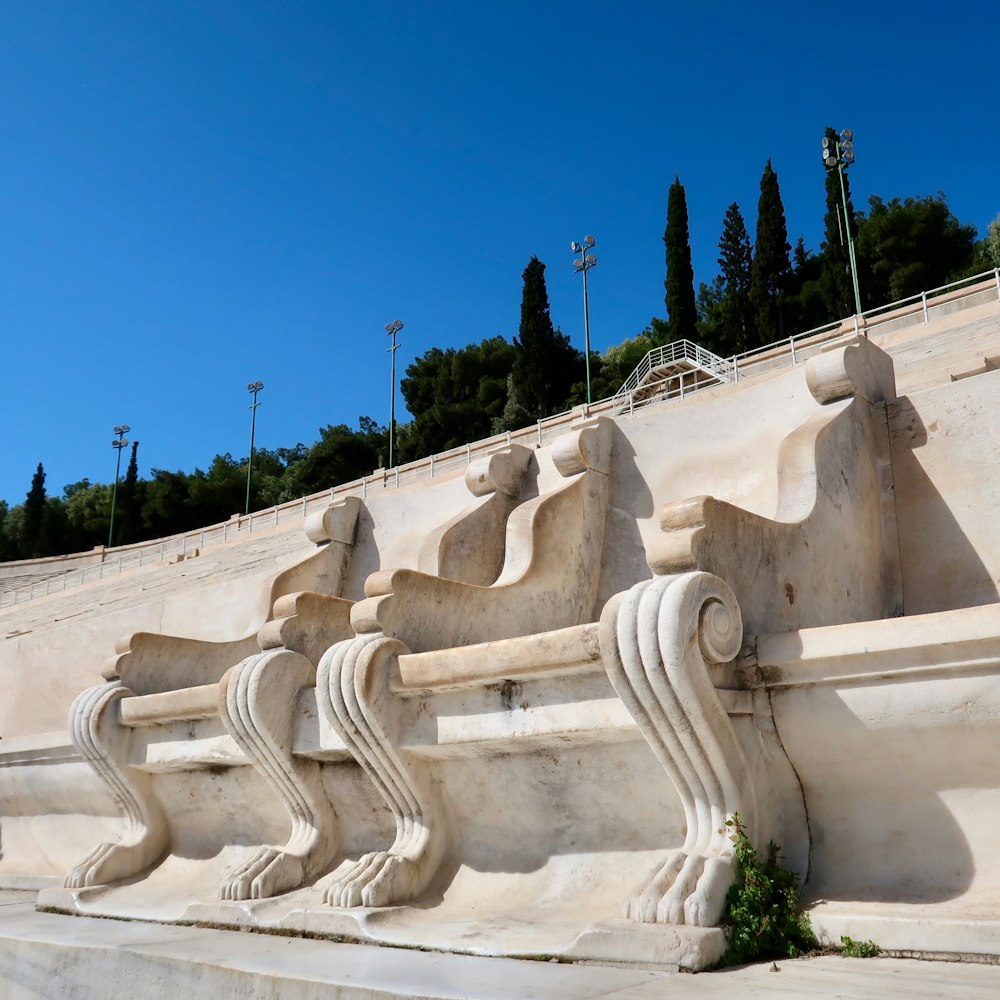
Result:
[[[883,201],[858,216],[857,252],[869,302],[889,303],[974,271],[976,227],[952,214],[944,194]]]

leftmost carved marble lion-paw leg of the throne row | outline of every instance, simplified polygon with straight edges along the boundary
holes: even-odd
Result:
[[[126,764],[131,730],[119,723],[118,703],[131,693],[111,681],[88,688],[70,708],[70,737],[121,806],[126,825],[118,843],[98,844],[69,870],[68,889],[130,878],[158,861],[167,847],[167,822],[153,796],[149,775]]]

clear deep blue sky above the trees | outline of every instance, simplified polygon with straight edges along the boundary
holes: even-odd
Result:
[[[821,239],[824,126],[855,201],[1000,211],[995,0],[407,3],[7,0],[0,9],[0,498],[387,422],[400,368],[517,332],[521,271],[583,346],[663,315],[666,192],[697,281],[771,157]],[[992,122],[992,124],[991,124]]]

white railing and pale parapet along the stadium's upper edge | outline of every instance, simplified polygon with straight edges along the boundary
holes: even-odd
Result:
[[[931,310],[935,308],[935,299],[939,300],[947,295],[949,301],[961,301],[983,292],[988,293],[992,288],[995,288],[996,297],[1000,300],[1000,268],[970,278],[963,278],[960,281],[942,285],[940,288],[921,292],[919,295],[911,295],[898,302],[868,309],[860,316],[853,317],[854,328],[858,332],[870,332],[880,322],[891,321],[905,324],[907,319],[911,323],[926,324],[929,322]],[[784,340],[746,351],[731,358],[719,358],[690,341],[665,344],[662,348],[650,351],[647,359],[656,352],[662,352],[660,356],[664,360],[660,361],[660,364],[667,364],[669,360],[678,360],[682,357],[687,358],[695,361],[698,367],[713,376],[713,379],[699,382],[698,372],[690,371],[687,374],[692,377],[687,382],[681,378],[679,384],[668,385],[663,391],[658,391],[649,398],[637,400],[635,398],[636,387],[630,386],[632,377],[639,371],[637,368],[636,372],[629,376],[629,381],[626,381],[621,390],[614,396],[600,402],[576,406],[520,430],[507,431],[495,437],[462,445],[460,448],[453,448],[451,451],[431,455],[429,458],[422,458],[416,462],[409,462],[395,469],[379,470],[354,482],[334,486],[320,493],[313,493],[310,496],[279,504],[276,507],[269,507],[266,510],[255,511],[246,517],[234,517],[221,524],[210,525],[206,528],[138,545],[105,549],[103,561],[96,566],[50,576],[36,583],[0,593],[0,608],[11,607],[45,594],[58,593],[70,587],[90,583],[93,580],[115,576],[125,570],[138,568],[148,563],[160,562],[178,556],[185,557],[193,554],[196,550],[203,550],[207,545],[229,541],[246,541],[252,539],[255,532],[259,535],[263,531],[273,531],[281,524],[292,520],[302,521],[310,511],[348,496],[364,497],[376,491],[400,489],[427,479],[446,476],[464,469],[473,458],[486,454],[494,448],[502,447],[504,444],[515,443],[528,447],[541,447],[564,433],[575,422],[589,420],[602,413],[609,415],[627,413],[631,416],[635,410],[641,407],[671,399],[683,399],[686,395],[699,389],[718,385],[716,379],[724,382],[740,382],[768,371],[799,364],[813,354],[819,353],[830,340],[839,336],[844,329],[845,322],[849,321],[850,318],[836,323],[827,323],[824,326],[795,334]],[[673,355],[671,355],[672,351],[675,352]],[[93,556],[93,553],[88,552],[86,555]]]

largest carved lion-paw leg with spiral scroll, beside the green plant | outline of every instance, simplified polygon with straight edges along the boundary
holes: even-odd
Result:
[[[679,850],[625,901],[646,923],[718,923],[735,878],[726,820],[752,828],[750,772],[708,664],[739,652],[743,624],[729,587],[708,573],[657,577],[608,602],[601,652],[615,691],[677,790],[687,820]]]

